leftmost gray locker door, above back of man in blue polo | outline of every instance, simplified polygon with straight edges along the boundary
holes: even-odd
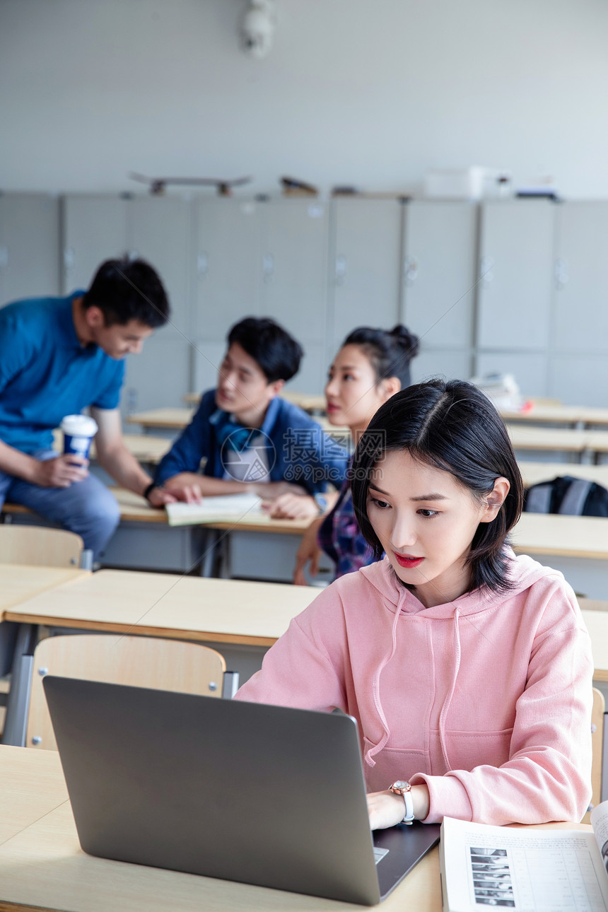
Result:
[[[59,293],[57,197],[0,194],[0,305]]]

